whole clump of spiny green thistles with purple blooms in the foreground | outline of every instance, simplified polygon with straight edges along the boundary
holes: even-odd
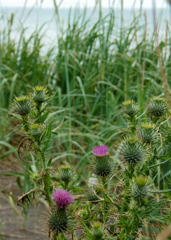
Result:
[[[161,139],[163,129],[168,129],[167,121],[159,122],[160,117],[166,115],[165,101],[153,98],[148,105],[147,112],[153,116],[152,121],[156,118],[159,124],[149,123],[145,112],[137,116],[140,110],[134,101],[123,103],[122,111],[129,127],[124,132],[127,136],[120,142],[118,155],[112,156],[112,150],[109,154],[107,145],[92,149],[92,173],[97,181],[90,185],[85,178],[81,182],[81,176],[75,177],[74,168],[69,163],[58,166],[56,170],[52,165],[53,159],[47,154],[51,136],[56,134],[47,110],[52,97],[46,88],[37,86],[28,97],[16,98],[13,107],[14,116],[23,125],[24,139],[19,145],[19,155],[23,143],[27,147],[29,142],[32,165],[27,172],[34,185],[31,192],[35,195],[40,192],[48,203],[46,227],[50,239],[67,239],[68,234],[76,239],[76,231],[81,228],[82,234],[78,239],[134,240],[146,234],[146,221],[154,224],[158,218],[164,226],[168,220],[163,220],[160,211],[168,207],[168,201],[162,190],[155,188],[154,178],[156,167],[168,162],[170,157],[170,148],[166,148],[169,142],[162,138],[161,150],[158,138],[159,135]],[[160,114],[159,110],[154,111],[159,105],[165,109]],[[29,106],[29,111],[20,111],[21,106]],[[149,175],[154,175],[153,180]],[[78,186],[79,181],[81,187]],[[29,194],[24,194],[20,201],[26,201]],[[75,226],[71,224],[73,216]]]

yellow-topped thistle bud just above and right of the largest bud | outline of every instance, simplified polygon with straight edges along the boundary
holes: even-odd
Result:
[[[138,137],[143,143],[152,143],[156,140],[156,126],[151,123],[142,123],[138,129]]]

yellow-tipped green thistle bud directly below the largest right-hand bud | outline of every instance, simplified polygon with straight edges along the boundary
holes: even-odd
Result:
[[[147,199],[151,194],[149,181],[144,176],[139,176],[132,184],[131,194],[135,198]]]

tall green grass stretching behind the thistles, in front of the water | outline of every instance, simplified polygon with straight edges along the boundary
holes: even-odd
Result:
[[[86,17],[86,8],[83,14],[76,9],[73,20],[74,10],[70,9],[66,30],[62,28],[59,11],[56,6],[56,23],[61,33],[57,44],[46,53],[42,51],[41,28],[35,29],[29,38],[21,28],[18,42],[12,40],[10,20],[0,32],[0,151],[5,147],[6,155],[14,151],[10,143],[17,128],[10,127],[8,116],[14,95],[26,94],[30,86],[44,85],[50,93],[57,91],[49,107],[55,111],[49,119],[54,127],[66,111],[65,121],[51,146],[53,161],[67,160],[82,172],[93,146],[112,147],[118,141],[120,129],[125,126],[119,110],[122,101],[134,99],[145,109],[150,97],[164,95],[164,88],[155,35],[148,37],[147,26],[141,25],[142,11],[129,27],[122,24],[118,28],[114,9],[103,16],[100,5],[99,19],[93,24]],[[167,32],[160,50],[169,82],[169,26]]]

